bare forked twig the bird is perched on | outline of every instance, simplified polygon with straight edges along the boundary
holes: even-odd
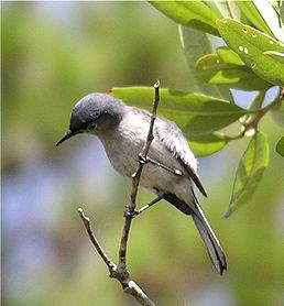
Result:
[[[97,252],[99,253],[99,255],[101,256],[101,259],[103,260],[106,265],[108,266],[108,270],[110,273],[109,276],[118,280],[120,282],[124,293],[128,293],[128,294],[132,295],[133,297],[135,297],[135,299],[143,306],[155,306],[155,304],[148,297],[148,295],[142,291],[142,288],[133,280],[131,280],[128,267],[127,267],[127,259],[125,258],[127,258],[127,244],[128,244],[131,221],[132,221],[132,218],[135,216],[135,201],[136,201],[138,187],[139,187],[142,170],[146,162],[151,162],[148,160],[148,153],[149,153],[151,143],[154,139],[153,129],[154,129],[154,122],[156,119],[156,109],[157,109],[159,101],[160,101],[160,91],[159,91],[160,90],[160,81],[159,80],[154,84],[154,89],[155,89],[155,97],[154,97],[154,102],[153,102],[149,133],[148,133],[145,144],[143,146],[143,150],[138,156],[139,157],[138,166],[136,166],[135,172],[132,175],[132,190],[131,190],[131,195],[130,195],[130,200],[129,200],[129,204],[124,211],[125,220],[124,220],[124,226],[123,226],[122,236],[121,236],[121,240],[120,240],[118,264],[114,264],[108,258],[108,255],[101,248],[100,243],[98,242],[98,240],[91,229],[90,219],[84,214],[81,208],[78,208],[78,214],[86,227],[86,230],[89,234],[89,238],[90,238],[94,247],[96,248]],[[171,170],[168,170],[168,171],[171,171]],[[181,175],[177,172],[175,172],[175,174]],[[151,205],[153,205],[156,201],[157,201],[157,199],[152,201],[148,206],[150,207]],[[142,210],[144,210],[144,209],[142,208]],[[142,212],[142,210],[141,210],[141,212]]]

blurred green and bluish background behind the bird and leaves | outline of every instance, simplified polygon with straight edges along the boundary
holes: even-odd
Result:
[[[3,305],[136,305],[109,280],[77,215],[84,207],[116,261],[130,182],[98,140],[55,142],[86,94],[156,78],[179,90],[190,83],[176,24],[146,2],[2,2]],[[192,220],[166,203],[133,221],[129,269],[157,305],[283,305],[284,167],[273,151],[283,130],[262,121],[270,166],[231,218],[222,215],[249,140],[199,159],[200,201],[228,258],[222,277]],[[152,198],[141,190],[139,203]]]

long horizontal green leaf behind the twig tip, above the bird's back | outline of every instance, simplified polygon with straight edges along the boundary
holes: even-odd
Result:
[[[159,113],[175,121],[189,135],[208,134],[237,121],[248,111],[228,101],[201,94],[160,89]],[[112,88],[110,95],[127,105],[151,109],[152,87]]]

